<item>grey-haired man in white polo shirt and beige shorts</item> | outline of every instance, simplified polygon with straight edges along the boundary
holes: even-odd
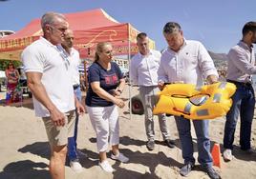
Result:
[[[51,145],[50,173],[65,178],[68,136],[74,134],[77,101],[71,80],[70,62],[60,43],[69,27],[66,18],[47,12],[41,18],[43,36],[22,52],[22,61],[32,90],[35,115],[42,117]]]

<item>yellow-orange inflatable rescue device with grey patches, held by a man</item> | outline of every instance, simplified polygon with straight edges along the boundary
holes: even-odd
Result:
[[[236,86],[228,82],[196,87],[191,84],[166,85],[154,114],[167,113],[187,119],[214,119],[224,116],[232,105]]]

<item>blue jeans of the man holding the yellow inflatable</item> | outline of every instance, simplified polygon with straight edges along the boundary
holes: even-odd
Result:
[[[182,157],[184,164],[195,164],[195,158],[193,156],[193,141],[191,136],[191,123],[190,120],[183,117],[175,116],[177,129],[181,140]],[[210,152],[210,140],[209,140],[209,121],[208,120],[193,120],[192,121],[198,143],[198,161],[203,168],[212,167],[212,156]]]

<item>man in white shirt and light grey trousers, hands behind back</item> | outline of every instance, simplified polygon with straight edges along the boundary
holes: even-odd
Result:
[[[156,94],[158,88],[158,69],[160,66],[160,51],[149,50],[147,34],[141,32],[137,36],[137,46],[139,52],[132,58],[130,74],[134,84],[139,85],[139,94],[142,99],[145,111],[145,129],[148,138],[147,149],[155,148],[155,131],[152,109],[156,105]],[[169,148],[174,148],[175,144],[170,140],[169,130],[165,114],[159,115],[160,131],[165,144]]]

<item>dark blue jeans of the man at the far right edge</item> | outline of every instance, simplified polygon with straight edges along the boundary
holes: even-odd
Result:
[[[234,133],[240,114],[240,146],[241,149],[250,149],[251,124],[255,106],[254,90],[252,86],[239,83],[235,85],[237,89],[232,96],[233,105],[226,114],[224,125],[224,148],[233,149]]]

